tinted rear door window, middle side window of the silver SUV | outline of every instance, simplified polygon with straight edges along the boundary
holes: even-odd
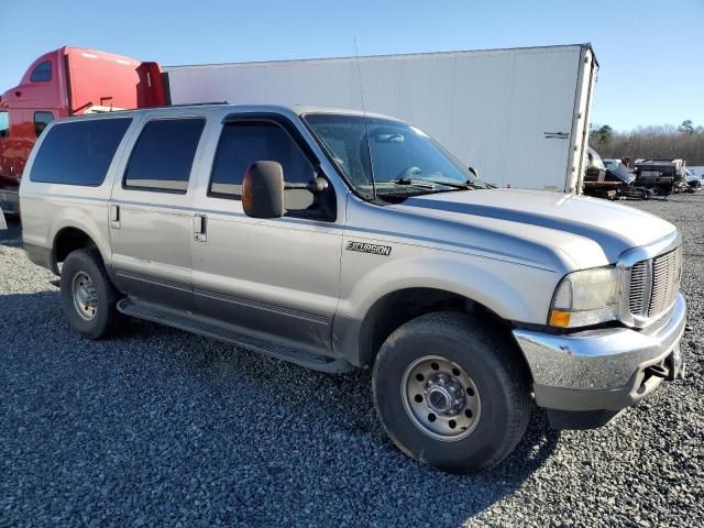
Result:
[[[124,172],[124,187],[185,194],[205,119],[156,119],[142,130]]]

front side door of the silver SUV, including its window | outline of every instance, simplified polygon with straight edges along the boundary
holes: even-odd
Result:
[[[280,163],[289,183],[312,178],[314,163],[292,129],[290,123],[254,119],[222,125],[210,180],[196,198],[202,220],[191,239],[195,311],[300,344],[330,348],[342,221],[307,218],[312,195],[302,189],[286,191],[290,216],[255,219],[242,209],[242,179],[257,161]]]

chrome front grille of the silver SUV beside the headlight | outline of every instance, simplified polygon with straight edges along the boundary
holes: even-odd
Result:
[[[680,290],[681,275],[681,248],[634,264],[628,292],[630,312],[639,317],[654,317],[670,308]]]

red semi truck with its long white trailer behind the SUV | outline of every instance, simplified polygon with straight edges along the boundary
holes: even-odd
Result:
[[[581,193],[598,64],[590,44],[160,67],[64,46],[0,98],[0,205],[18,211],[57,118],[165,105],[322,105],[404,119],[496,186]]]

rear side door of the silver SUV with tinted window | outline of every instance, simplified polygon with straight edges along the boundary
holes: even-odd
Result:
[[[179,310],[193,305],[190,175],[206,124],[200,116],[150,114],[110,202],[112,266],[130,296]]]

